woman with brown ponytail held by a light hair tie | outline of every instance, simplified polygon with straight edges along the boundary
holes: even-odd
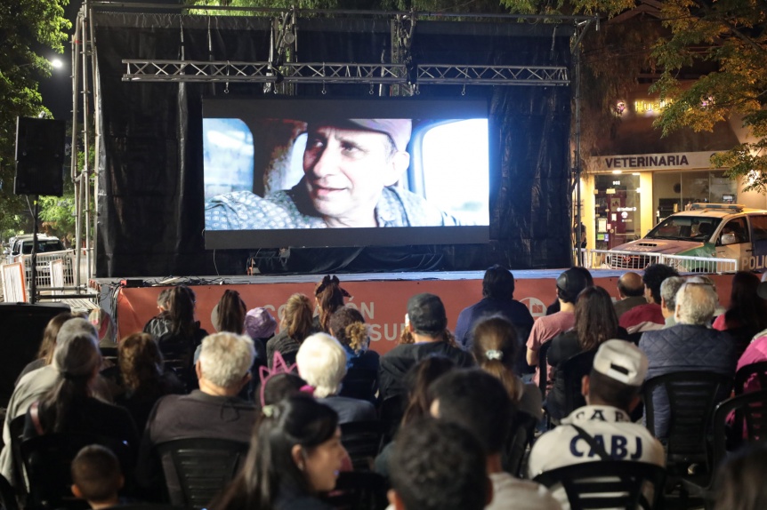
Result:
[[[525,384],[514,374],[514,360],[521,346],[517,331],[504,317],[489,317],[474,326],[472,353],[480,369],[500,379],[517,409],[540,419],[541,392],[537,386]]]

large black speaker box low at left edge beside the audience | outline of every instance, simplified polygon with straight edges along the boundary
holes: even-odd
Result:
[[[0,303],[0,406],[8,406],[16,378],[36,358],[48,321],[69,311],[62,303]]]

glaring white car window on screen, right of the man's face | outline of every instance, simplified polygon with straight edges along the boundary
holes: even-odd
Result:
[[[421,142],[426,200],[465,225],[488,225],[488,120],[437,124]]]

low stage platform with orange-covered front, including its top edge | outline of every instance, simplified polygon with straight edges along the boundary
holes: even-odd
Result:
[[[516,280],[514,299],[529,307],[534,317],[556,298],[555,280],[563,269],[513,271]],[[618,298],[618,278],[625,271],[596,269],[594,283]],[[404,328],[408,298],[420,292],[440,296],[448,312],[448,328],[456,326],[458,314],[482,298],[483,271],[432,273],[339,274],[342,286],[351,294],[348,305],[356,307],[370,324],[371,348],[385,353],[396,345]],[[730,299],[732,275],[712,275],[723,306]],[[187,284],[197,295],[197,315],[201,326],[214,332],[211,311],[227,289],[238,291],[249,308],[266,307],[272,315],[282,315],[287,298],[295,292],[314,295],[321,275],[185,276],[171,278],[131,278],[143,286],[121,286],[122,278],[95,278],[91,286],[100,289],[101,306],[111,310],[117,322],[117,338],[141,331],[157,315],[157,295],[163,289]]]

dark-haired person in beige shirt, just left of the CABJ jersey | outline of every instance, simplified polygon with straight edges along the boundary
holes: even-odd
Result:
[[[505,473],[501,449],[516,411],[498,379],[480,370],[452,371],[431,386],[432,416],[464,426],[487,456],[487,473],[493,484],[493,501],[487,510],[556,510],[559,503],[548,490],[534,482]]]

